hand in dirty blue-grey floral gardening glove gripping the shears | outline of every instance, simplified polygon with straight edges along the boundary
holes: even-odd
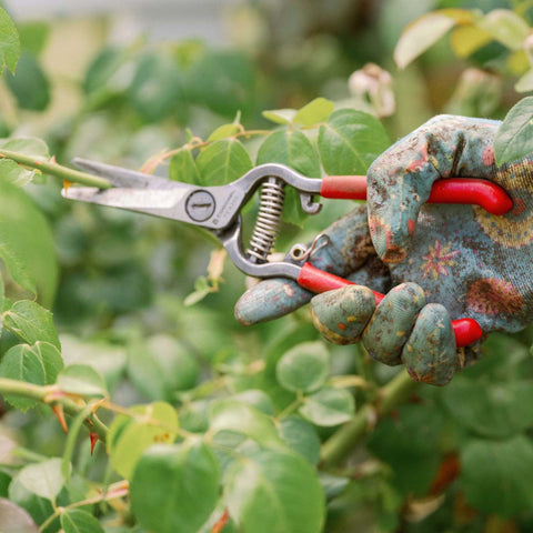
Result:
[[[364,288],[314,296],[313,320],[328,340],[362,340],[378,361],[403,362],[414,379],[441,385],[479,352],[456,350],[450,320],[475,319],[485,334],[532,321],[533,161],[497,168],[497,127],[435,117],[375,160],[366,207],[326,231],[331,244],[313,263],[373,290],[393,289],[378,306]],[[495,217],[473,205],[425,204],[433,182],[452,177],[494,181],[513,209]],[[311,298],[292,282],[268,280],[240,299],[235,315],[270,320]]]

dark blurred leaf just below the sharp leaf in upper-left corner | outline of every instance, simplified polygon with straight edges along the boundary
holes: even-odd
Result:
[[[39,61],[22,52],[17,64],[17,73],[7,76],[6,83],[21,109],[44,111],[50,103],[50,82]]]

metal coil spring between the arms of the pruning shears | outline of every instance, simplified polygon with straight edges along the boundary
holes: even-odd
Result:
[[[285,191],[283,181],[269,178],[261,188],[258,219],[247,253],[257,261],[264,263],[272,250],[281,224],[281,212]]]

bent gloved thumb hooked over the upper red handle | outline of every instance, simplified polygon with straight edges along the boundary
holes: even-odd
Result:
[[[421,205],[440,178],[491,179],[497,122],[440,115],[400,140],[369,170],[369,227],[378,255],[403,261]]]

